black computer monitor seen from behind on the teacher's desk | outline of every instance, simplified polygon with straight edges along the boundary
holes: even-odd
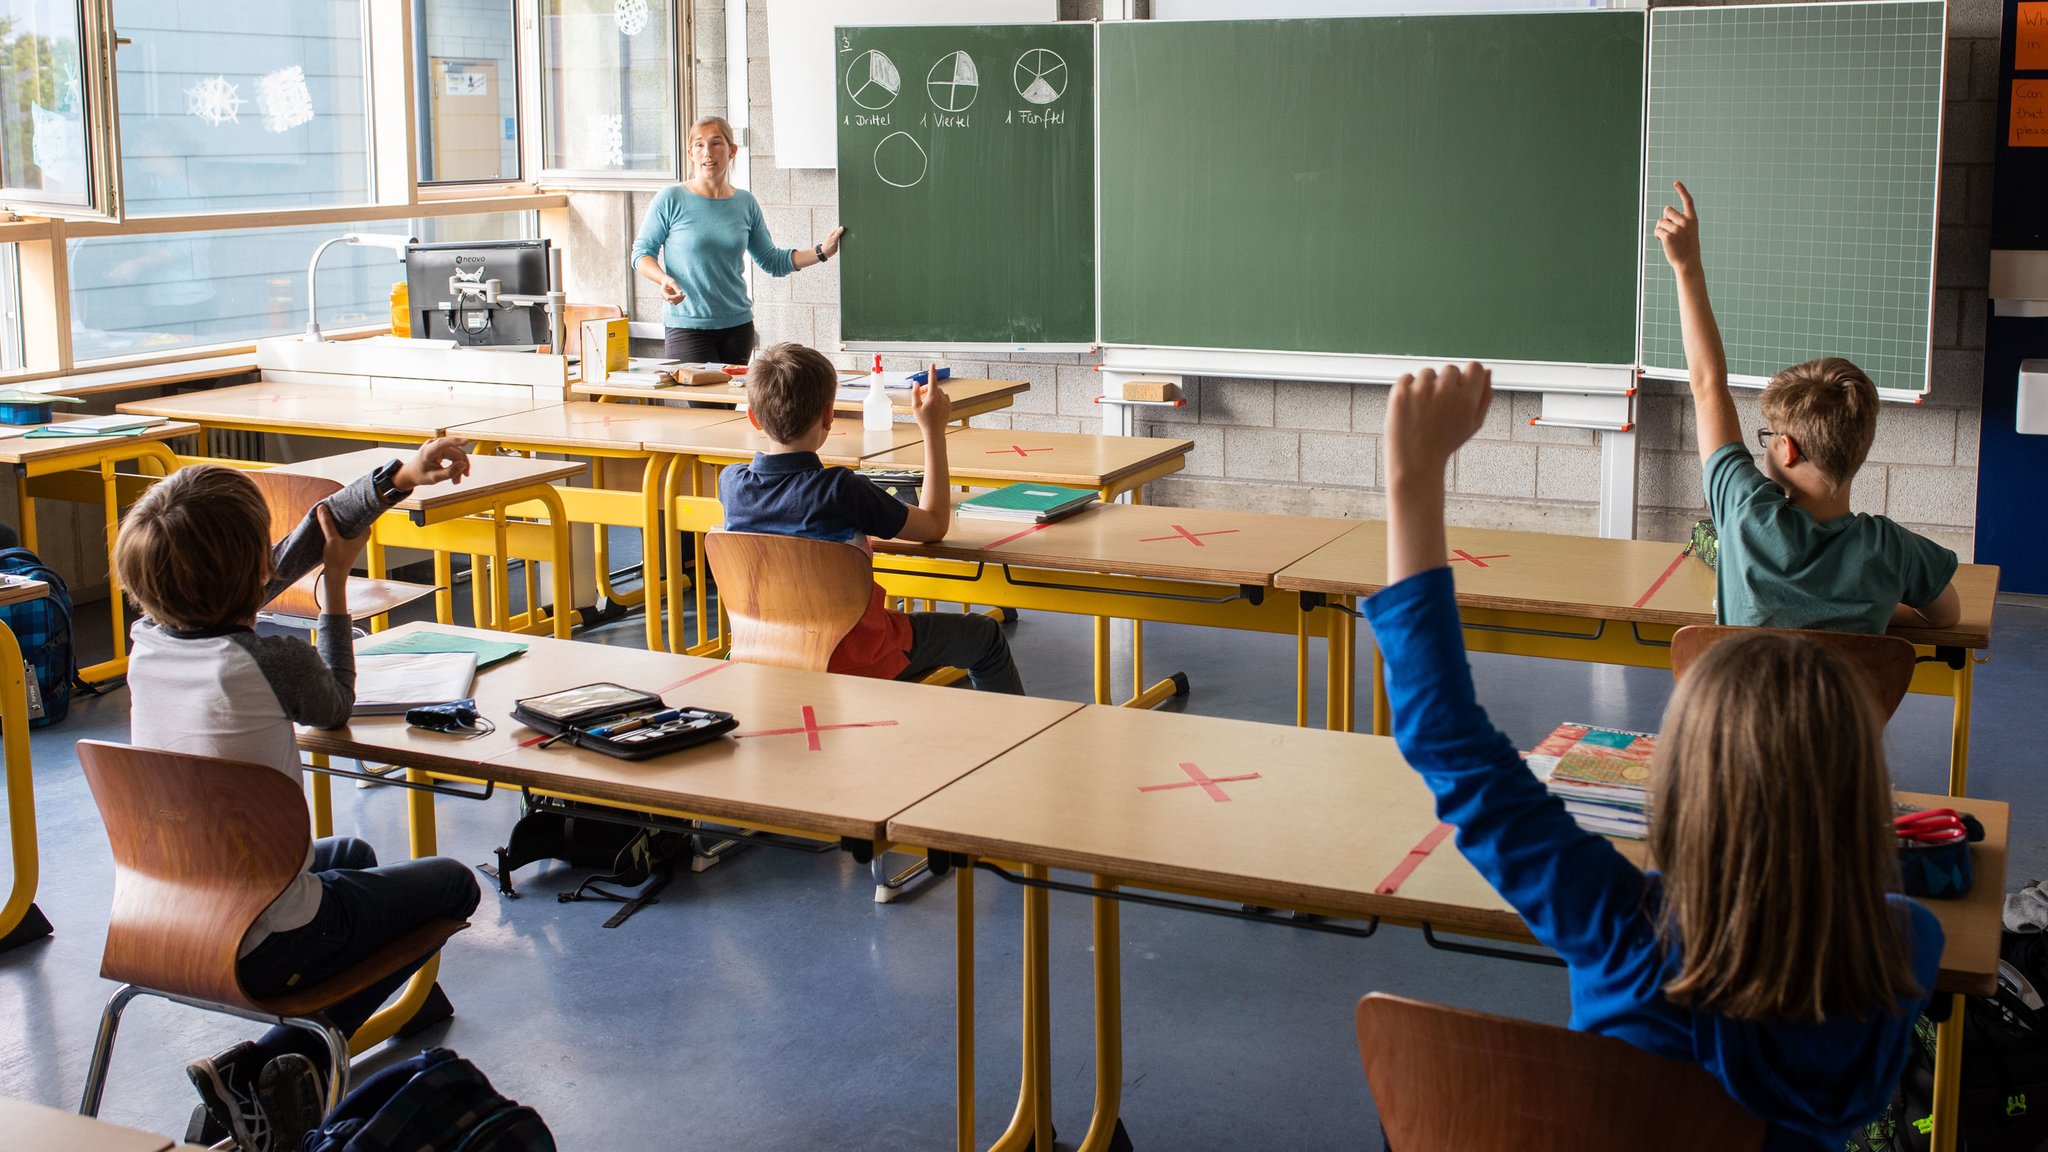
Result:
[[[498,281],[508,295],[547,295],[547,240],[475,244],[412,244],[406,248],[406,291],[412,334],[473,348],[535,348],[551,338],[547,307],[483,303],[481,295],[449,289],[449,281]]]

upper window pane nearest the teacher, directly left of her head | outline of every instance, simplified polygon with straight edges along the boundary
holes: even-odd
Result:
[[[680,176],[680,29],[674,0],[541,2],[543,182]]]

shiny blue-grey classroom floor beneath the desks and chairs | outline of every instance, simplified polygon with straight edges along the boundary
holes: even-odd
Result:
[[[104,652],[104,607],[82,609],[84,658]],[[1292,637],[1149,627],[1157,672],[1194,681],[1169,707],[1288,724]],[[2048,689],[2048,603],[2009,599],[1978,668],[1970,791],[2013,814],[2011,881],[2048,875],[2040,707]],[[586,640],[639,646],[641,621]],[[1012,646],[1036,695],[1085,699],[1085,621],[1028,613]],[[1128,668],[1120,660],[1118,668]],[[1481,699],[1522,746],[1563,719],[1655,730],[1663,672],[1475,656]],[[1128,674],[1128,672],[1120,672]],[[76,1107],[100,1004],[111,863],[76,771],[78,738],[123,740],[127,693],[74,701],[35,734],[41,830],[37,902],[51,939],[0,953],[0,1095]],[[1948,701],[1911,697],[1888,732],[1898,787],[1939,791]],[[516,799],[440,801],[440,847],[481,863],[504,842]],[[1360,834],[1370,834],[1362,812]],[[336,789],[336,830],[406,851],[403,795]],[[0,861],[0,877],[6,875]],[[424,1043],[455,1047],[510,1097],[535,1105],[563,1150],[608,1148],[950,1148],[952,892],[874,904],[842,853],[754,851],[680,877],[657,906],[602,929],[602,904],[553,894],[584,873],[535,865],[522,898],[485,890],[475,927],[446,951],[455,1019],[371,1062]],[[977,883],[977,1129],[991,1140],[1016,1103],[1018,892]],[[1417,933],[1323,937],[1188,912],[1126,908],[1124,1121],[1139,1148],[1378,1148],[1358,1070],[1352,1011],[1370,990],[1563,1023],[1559,970],[1432,951]],[[1087,908],[1053,900],[1055,1121],[1087,1127]],[[102,1115],[180,1136],[193,1105],[182,1064],[240,1039],[238,1021],[143,1000],[129,1011]],[[0,1140],[4,1144],[4,1140]]]

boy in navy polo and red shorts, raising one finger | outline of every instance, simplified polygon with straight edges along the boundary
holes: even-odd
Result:
[[[825,467],[819,445],[831,433],[840,373],[803,344],[776,344],[748,369],[748,420],[774,451],[719,476],[725,529],[831,539],[868,549],[868,537],[938,541],[952,529],[946,418],[952,402],[918,387],[911,412],[924,430],[924,488],[918,506],[883,492],[850,467]],[[934,668],[967,668],[977,691],[1024,695],[1010,642],[979,613],[899,613],[877,584],[860,623],[831,652],[827,672],[913,681]]]

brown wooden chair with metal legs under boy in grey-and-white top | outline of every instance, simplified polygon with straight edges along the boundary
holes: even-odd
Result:
[[[78,1111],[98,1115],[115,1029],[135,996],[319,1033],[332,1058],[332,1109],[348,1091],[348,1037],[319,1013],[440,949],[469,924],[432,920],[319,984],[252,996],[236,972],[236,951],[305,867],[313,842],[299,783],[262,765],[100,740],[78,742],[78,765],[115,853],[100,976],[121,982],[100,1013]]]

